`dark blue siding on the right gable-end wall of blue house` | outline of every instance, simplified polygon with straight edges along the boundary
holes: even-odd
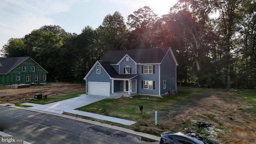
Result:
[[[168,51],[166,57],[160,65],[160,72],[160,94],[165,94],[165,92],[168,92],[168,90],[176,90],[176,64],[170,51]],[[163,88],[164,80],[166,80],[165,89]]]

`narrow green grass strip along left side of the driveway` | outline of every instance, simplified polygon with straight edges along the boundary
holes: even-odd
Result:
[[[84,94],[84,92],[75,92],[75,93],[71,93],[71,94],[65,94],[65,95],[60,95],[60,96],[48,96],[46,100],[44,99],[40,99],[40,100],[32,100],[30,101],[30,103],[34,103],[34,104],[49,104],[52,102],[58,102],[61,100],[66,100],[69,98],[74,98],[77,97],[80,94]]]

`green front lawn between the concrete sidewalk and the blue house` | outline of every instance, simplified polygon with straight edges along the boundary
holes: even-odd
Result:
[[[137,95],[133,98],[122,97],[118,99],[105,99],[93,104],[89,104],[76,110],[124,118],[130,120],[144,120],[154,116],[155,111],[168,112],[173,104],[189,101],[190,98],[200,96],[200,94],[209,94],[211,90],[192,89],[181,87],[178,94],[164,95],[163,98],[156,96]],[[149,100],[147,99],[149,98]],[[143,114],[139,111],[139,106],[143,106]]]

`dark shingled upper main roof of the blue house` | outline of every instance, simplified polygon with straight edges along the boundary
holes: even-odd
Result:
[[[166,47],[108,51],[100,60],[108,61],[110,64],[117,64],[127,54],[136,63],[161,63],[169,49]]]

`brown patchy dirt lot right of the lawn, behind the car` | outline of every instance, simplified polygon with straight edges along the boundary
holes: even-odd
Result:
[[[221,144],[256,143],[256,115],[250,113],[252,107],[237,94],[213,90],[210,96],[197,96],[186,100],[185,103],[175,104],[169,112],[159,113],[158,129],[154,126],[154,116],[147,122],[149,125],[145,129],[182,130],[182,122],[196,120],[212,124],[218,135],[213,139],[217,139]]]

